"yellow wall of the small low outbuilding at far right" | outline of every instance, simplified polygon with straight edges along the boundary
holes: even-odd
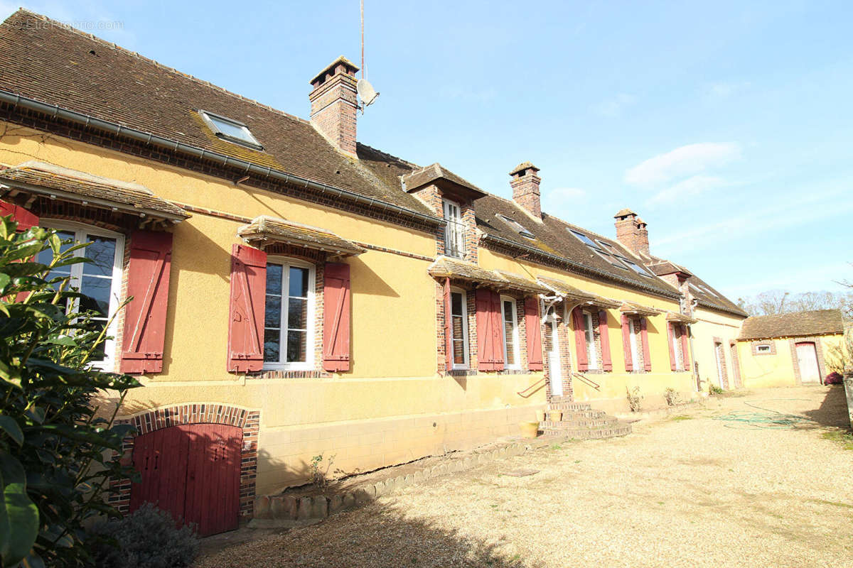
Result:
[[[817,341],[821,344],[821,355],[823,361],[831,358],[830,351],[833,346],[843,341],[841,334],[832,336],[818,336]],[[809,338],[804,341],[813,341]],[[752,354],[752,343],[762,345],[773,345],[775,353]],[[797,381],[794,365],[796,364],[796,353],[792,353],[791,341],[788,337],[763,339],[758,341],[739,341],[738,353],[744,369],[744,382],[746,387],[793,387],[800,384]],[[827,368],[821,376],[821,380],[829,373]]]

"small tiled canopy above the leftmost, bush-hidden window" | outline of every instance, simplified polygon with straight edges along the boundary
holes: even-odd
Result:
[[[189,218],[183,209],[157,197],[145,186],[44,162],[30,161],[15,168],[0,169],[0,185],[55,195],[75,203],[87,202],[91,207],[121,209],[134,215],[142,213],[171,221]]]

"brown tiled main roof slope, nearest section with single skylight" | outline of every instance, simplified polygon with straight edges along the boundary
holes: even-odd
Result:
[[[388,186],[335,150],[308,121],[26,10],[0,25],[0,89],[434,215],[398,182]],[[213,135],[200,109],[245,123],[264,149]]]

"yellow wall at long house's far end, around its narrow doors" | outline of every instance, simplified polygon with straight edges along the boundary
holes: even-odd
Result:
[[[734,388],[734,373],[737,372],[732,352],[729,347],[730,341],[735,341],[740,334],[740,325],[744,318],[696,307],[693,317],[699,321],[690,326],[693,331],[693,357],[699,363],[699,380],[702,390],[708,390],[708,385],[722,387],[720,376],[717,372],[717,354],[714,350],[715,338],[722,340],[722,353],[724,355],[722,364],[728,375],[728,388]],[[742,358],[740,359],[743,360]],[[743,376],[743,365],[740,365],[741,377]]]

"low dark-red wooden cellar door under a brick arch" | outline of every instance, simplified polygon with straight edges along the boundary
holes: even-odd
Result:
[[[242,430],[185,424],[138,436],[133,463],[142,482],[131,489],[131,512],[152,502],[199,536],[237,528]]]

